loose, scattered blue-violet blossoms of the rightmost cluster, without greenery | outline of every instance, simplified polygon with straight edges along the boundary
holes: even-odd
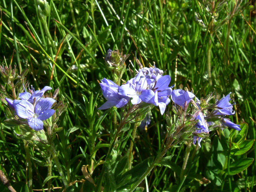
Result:
[[[208,125],[213,124],[213,122],[207,122],[205,119],[209,117],[219,117],[220,122],[222,123],[223,126],[230,127],[232,129],[240,131],[240,125],[234,124],[231,122],[229,119],[224,118],[225,115],[234,115],[235,111],[233,111],[233,104],[231,104],[230,98],[229,98],[230,93],[226,96],[223,97],[221,100],[217,101],[213,105],[213,110],[211,113],[209,113],[207,116],[204,116],[202,110],[199,110],[199,113],[196,113],[195,120],[198,120],[196,124],[196,134],[200,133],[209,133]],[[171,95],[172,101],[176,104],[182,107],[182,109],[186,108],[196,96],[189,92],[189,91],[184,91],[181,89],[173,90],[172,95]],[[196,105],[200,109],[200,101],[196,98]],[[193,142],[194,144],[198,143],[198,145],[201,147],[200,142],[203,138],[200,136],[194,136]]]

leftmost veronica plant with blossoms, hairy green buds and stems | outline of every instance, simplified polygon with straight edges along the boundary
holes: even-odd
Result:
[[[26,90],[28,83],[24,70],[20,75],[16,74],[16,68],[10,66],[0,67],[1,77],[7,82],[7,87],[1,86],[1,100],[7,104],[5,125],[16,127],[16,135],[23,139],[26,151],[26,161],[28,164],[28,188],[32,191],[32,164],[30,160],[29,148],[32,146],[43,154],[44,162],[47,162],[47,177],[52,176],[52,160],[60,173],[60,177],[65,187],[68,186],[67,179],[60,166],[53,140],[56,132],[62,130],[58,127],[58,119],[61,113],[66,109],[62,102],[56,102],[59,90],[54,94],[44,93],[52,90],[45,86],[42,90],[36,90],[33,86]],[[25,74],[24,74],[25,73]],[[11,95],[8,94],[11,90]],[[22,92],[22,90],[24,92]],[[17,129],[18,127],[18,129]],[[44,129],[45,128],[45,129]],[[48,191],[51,191],[51,180],[48,180]]]

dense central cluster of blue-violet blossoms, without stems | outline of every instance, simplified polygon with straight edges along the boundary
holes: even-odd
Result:
[[[163,76],[163,73],[155,66],[145,67],[140,69],[134,78],[121,86],[104,78],[101,80],[100,87],[107,102],[98,109],[107,109],[113,106],[121,108],[131,99],[133,105],[143,101],[158,106],[163,115],[172,93],[172,88],[168,87],[171,77]]]

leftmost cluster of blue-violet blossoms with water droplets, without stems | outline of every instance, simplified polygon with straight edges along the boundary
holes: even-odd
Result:
[[[31,86],[29,92],[25,90],[19,94],[20,100],[9,98],[5,98],[5,100],[18,117],[26,119],[32,129],[39,131],[44,128],[43,120],[50,118],[55,112],[51,107],[56,100],[49,97],[42,98],[44,92],[51,89],[51,87],[45,86],[42,90],[35,91]]]

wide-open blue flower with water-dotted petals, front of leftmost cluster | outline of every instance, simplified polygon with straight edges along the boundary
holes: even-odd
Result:
[[[43,120],[50,118],[54,114],[55,110],[51,109],[54,102],[56,100],[52,98],[43,98],[33,105],[28,100],[14,100],[13,106],[20,118],[27,119],[28,125],[32,129],[39,131],[44,128]]]

